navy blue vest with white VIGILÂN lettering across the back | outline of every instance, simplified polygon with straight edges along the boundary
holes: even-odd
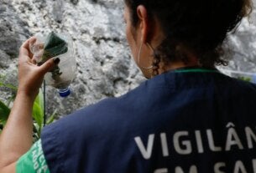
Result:
[[[43,130],[51,173],[256,172],[256,86],[170,71]]]

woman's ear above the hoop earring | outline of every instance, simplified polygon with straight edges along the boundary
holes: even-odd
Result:
[[[141,41],[147,43],[149,41],[149,16],[147,9],[143,5],[137,8],[138,29],[141,31]]]

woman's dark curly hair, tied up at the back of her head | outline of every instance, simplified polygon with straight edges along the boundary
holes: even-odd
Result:
[[[227,64],[222,57],[222,43],[241,19],[252,11],[251,0],[125,0],[133,27],[137,26],[138,5],[147,8],[149,18],[156,18],[165,40],[155,48],[164,62],[182,60],[189,50],[202,66]],[[186,50],[186,51],[185,51]]]

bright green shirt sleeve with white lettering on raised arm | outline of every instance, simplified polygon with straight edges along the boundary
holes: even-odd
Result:
[[[31,149],[22,155],[16,165],[16,173],[50,173],[46,163],[41,140],[38,140]]]

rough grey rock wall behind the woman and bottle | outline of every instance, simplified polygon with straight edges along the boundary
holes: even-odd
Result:
[[[18,48],[35,33],[70,33],[77,62],[72,94],[61,99],[47,87],[47,114],[70,114],[106,97],[117,97],[144,80],[128,49],[121,0],[0,0],[0,74],[17,85]],[[256,12],[229,38],[229,69],[256,73]],[[10,97],[0,88],[0,99]]]

